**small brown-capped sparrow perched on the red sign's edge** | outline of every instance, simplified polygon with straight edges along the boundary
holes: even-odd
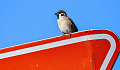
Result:
[[[67,13],[63,10],[57,11],[57,22],[60,31],[63,33],[62,37],[64,38],[65,34],[69,34],[71,38],[71,33],[78,32],[78,28],[71,18],[67,16]]]

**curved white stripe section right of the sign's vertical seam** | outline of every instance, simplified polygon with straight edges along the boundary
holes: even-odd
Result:
[[[100,70],[106,70],[107,65],[110,62],[110,59],[112,58],[112,55],[115,52],[116,42],[115,42],[115,40],[113,39],[112,36],[107,35],[107,34],[97,34],[97,35],[94,35],[94,36],[92,36],[92,35],[88,36],[88,40],[94,40],[94,39],[107,39],[111,44],[110,50],[108,51],[108,54],[107,54],[102,66],[100,68]]]

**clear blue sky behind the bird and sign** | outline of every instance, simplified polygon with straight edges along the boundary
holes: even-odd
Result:
[[[58,10],[79,31],[109,29],[120,37],[120,0],[0,0],[0,48],[62,35]],[[113,70],[120,70],[120,55]]]

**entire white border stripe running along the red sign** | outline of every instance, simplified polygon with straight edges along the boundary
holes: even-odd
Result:
[[[114,38],[108,34],[94,34],[94,35],[86,35],[86,36],[88,37],[88,40],[106,39],[110,42],[110,44],[111,44],[110,50],[100,68],[100,70],[105,70],[110,62],[110,59],[112,58],[112,55],[115,52],[115,49],[116,49],[116,42],[115,42]],[[48,44],[43,44],[43,45],[39,45],[39,46],[34,46],[34,47],[25,48],[25,49],[2,53],[2,54],[0,54],[0,59],[13,57],[13,56],[17,56],[17,55],[22,55],[22,54],[27,54],[27,53],[31,53],[31,52],[36,52],[36,51],[40,51],[40,50],[55,48],[55,47],[63,46],[63,45],[67,45],[67,44],[87,41],[86,36],[80,36],[80,37],[71,38],[71,39],[67,39],[67,40],[62,40],[62,41],[57,41],[57,42],[53,42],[53,43],[48,43]]]

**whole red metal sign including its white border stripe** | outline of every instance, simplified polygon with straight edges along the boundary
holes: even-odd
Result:
[[[0,49],[0,70],[110,70],[120,42],[109,30],[88,30]]]

